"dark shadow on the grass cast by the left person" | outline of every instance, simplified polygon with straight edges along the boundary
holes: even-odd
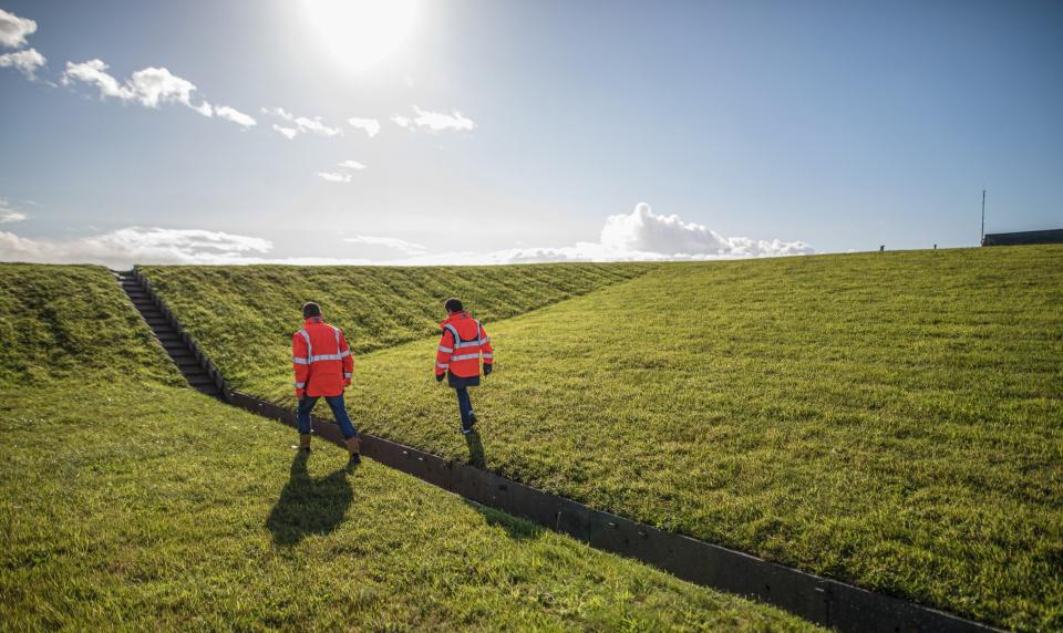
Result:
[[[314,479],[307,471],[309,454],[300,450],[291,460],[291,476],[269,512],[266,525],[279,546],[292,546],[307,535],[327,535],[341,522],[354,497],[347,480],[349,468]]]

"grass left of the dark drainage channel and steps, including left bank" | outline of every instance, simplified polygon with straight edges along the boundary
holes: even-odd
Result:
[[[99,268],[0,266],[0,629],[802,629],[180,384]],[[18,353],[11,352],[18,346]]]

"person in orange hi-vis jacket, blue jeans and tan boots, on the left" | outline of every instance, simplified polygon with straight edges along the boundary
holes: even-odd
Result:
[[[310,412],[318,398],[324,396],[347,439],[351,463],[358,464],[358,429],[351,424],[351,416],[347,414],[343,403],[343,387],[351,385],[351,373],[354,371],[351,349],[347,345],[343,331],[324,322],[317,303],[303,305],[302,318],[302,329],[291,335],[291,367],[296,373],[296,398],[299,399],[299,408],[296,409],[299,449],[310,450]]]

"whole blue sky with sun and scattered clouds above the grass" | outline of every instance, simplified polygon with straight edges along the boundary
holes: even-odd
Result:
[[[1063,227],[1057,1],[0,0],[0,260],[502,263]]]

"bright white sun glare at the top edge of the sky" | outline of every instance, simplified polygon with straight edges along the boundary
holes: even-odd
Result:
[[[416,20],[415,0],[303,0],[302,6],[322,43],[354,71],[395,52]]]

